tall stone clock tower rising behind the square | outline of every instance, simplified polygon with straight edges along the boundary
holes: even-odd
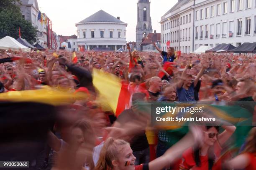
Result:
[[[137,2],[136,50],[142,50],[141,42],[149,33],[152,33],[149,0]]]

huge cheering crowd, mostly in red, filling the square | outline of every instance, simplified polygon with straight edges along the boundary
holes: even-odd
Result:
[[[53,170],[256,170],[255,122],[240,153],[224,159],[223,148],[228,148],[236,126],[192,125],[168,133],[151,125],[150,115],[136,108],[141,101],[212,105],[255,101],[256,55],[179,54],[173,47],[167,52],[158,47],[158,52],[127,49],[1,51],[0,93],[49,86],[87,96],[66,104],[61,118],[49,127],[41,170],[49,166],[51,149]],[[95,70],[128,85],[131,102],[120,115],[99,105]]]

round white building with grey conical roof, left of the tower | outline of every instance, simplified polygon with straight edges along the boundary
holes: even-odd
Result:
[[[126,48],[126,27],[120,18],[103,10],[76,24],[78,50],[109,47],[111,50]]]

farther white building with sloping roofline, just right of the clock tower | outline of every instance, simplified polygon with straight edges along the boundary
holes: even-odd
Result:
[[[192,51],[193,0],[179,0],[161,17],[161,50],[166,51],[166,42],[182,52]]]

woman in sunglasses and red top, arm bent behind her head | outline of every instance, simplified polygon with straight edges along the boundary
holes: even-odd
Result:
[[[235,126],[222,128],[225,130],[218,134],[219,126],[206,126],[202,143],[183,153],[180,170],[221,170],[221,146],[236,130]]]

